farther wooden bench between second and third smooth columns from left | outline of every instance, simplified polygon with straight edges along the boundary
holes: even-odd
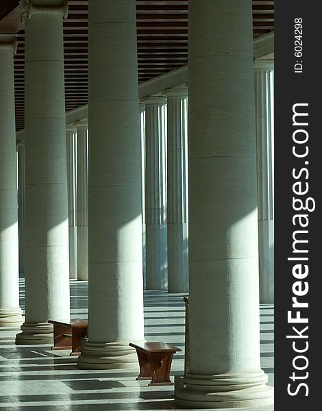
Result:
[[[71,349],[70,356],[79,356],[81,340],[87,337],[87,320],[49,320],[53,324],[53,347],[51,349]]]

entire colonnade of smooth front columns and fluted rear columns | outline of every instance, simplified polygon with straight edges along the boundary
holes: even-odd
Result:
[[[265,247],[272,245],[273,212],[265,201],[272,199],[272,158],[267,154],[273,145],[268,114],[272,76],[266,67],[256,67],[260,97],[255,115],[251,2],[190,0],[189,116],[185,88],[143,99],[143,116],[135,0],[90,1],[88,124],[68,129],[62,38],[67,10],[66,1],[57,3],[29,0],[23,10],[26,309],[16,343],[51,343],[48,319],[69,318],[71,275],[88,278],[89,286],[88,339],[79,368],[135,363],[128,343],[145,340],[145,239],[147,288],[188,292],[190,283],[190,370],[176,381],[177,404],[271,403],[267,375],[260,369],[257,203],[261,196],[260,227],[269,240],[260,245],[260,266],[262,284],[269,278],[270,288],[271,274],[265,273],[271,273],[272,253]],[[0,36],[0,92],[10,101],[0,106],[0,324],[23,321],[18,307],[14,44],[14,36]],[[18,198],[22,207],[23,197]],[[263,298],[270,299],[270,292],[262,292]]]

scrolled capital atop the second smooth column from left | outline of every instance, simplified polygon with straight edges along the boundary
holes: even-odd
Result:
[[[36,13],[61,14],[63,18],[68,15],[67,0],[21,0],[21,21],[30,18]]]

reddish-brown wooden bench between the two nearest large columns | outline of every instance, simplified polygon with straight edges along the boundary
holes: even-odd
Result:
[[[170,369],[173,354],[181,349],[164,343],[129,344],[136,349],[140,374],[136,379],[151,379],[149,386],[173,385]]]

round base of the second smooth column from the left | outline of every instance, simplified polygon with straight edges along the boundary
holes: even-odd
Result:
[[[53,325],[36,323],[21,325],[21,331],[16,334],[16,345],[20,344],[51,344],[53,345]]]

